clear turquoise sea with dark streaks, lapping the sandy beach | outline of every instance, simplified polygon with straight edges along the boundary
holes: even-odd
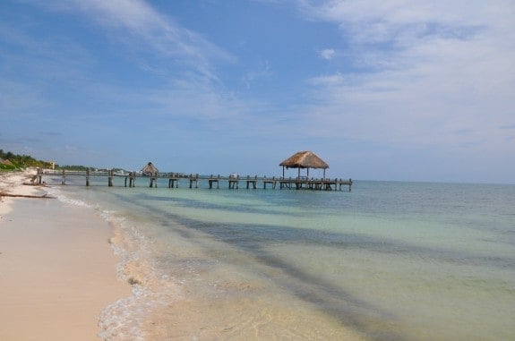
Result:
[[[115,226],[134,294],[107,339],[515,339],[513,185],[165,181],[56,186]]]

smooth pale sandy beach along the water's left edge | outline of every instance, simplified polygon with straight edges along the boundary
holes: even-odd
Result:
[[[0,175],[2,192],[42,194]],[[0,339],[94,340],[99,313],[131,295],[116,277],[111,227],[93,210],[54,199],[0,201]]]

